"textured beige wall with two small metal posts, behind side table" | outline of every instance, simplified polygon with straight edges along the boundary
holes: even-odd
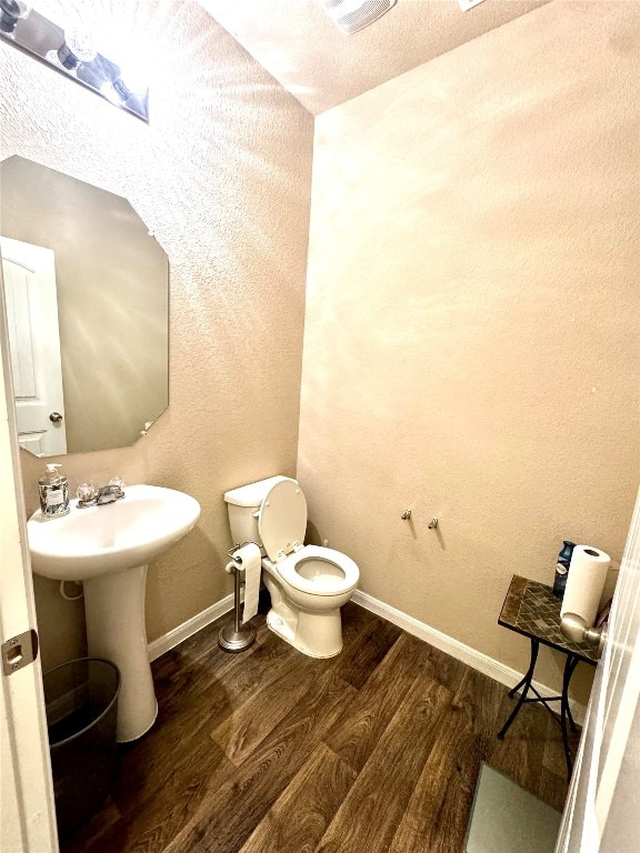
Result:
[[[316,122],[310,516],[364,592],[518,669],[512,573],[619,560],[638,488],[639,10],[544,6]]]

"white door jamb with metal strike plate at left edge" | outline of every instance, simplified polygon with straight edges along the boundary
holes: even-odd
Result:
[[[0,640],[36,628],[0,277]],[[57,853],[40,660],[0,669],[0,850]]]

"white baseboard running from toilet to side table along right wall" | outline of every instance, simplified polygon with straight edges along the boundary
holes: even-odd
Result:
[[[474,670],[478,670],[478,672],[481,672],[483,675],[489,675],[490,679],[500,682],[500,684],[512,688],[522,678],[522,673],[511,666],[507,666],[504,663],[500,663],[500,661],[489,658],[488,654],[478,652],[470,645],[466,645],[459,640],[454,640],[452,636],[443,634],[441,631],[427,625],[424,622],[419,622],[417,619],[413,619],[413,616],[409,616],[401,610],[384,604],[383,601],[379,601],[372,595],[368,595],[366,592],[356,590],[351,600],[356,604],[360,604],[364,610],[369,610],[371,613],[376,613],[376,615],[386,619],[388,622],[392,622],[394,625],[398,625],[398,628],[407,631],[407,633],[413,634],[413,636],[423,640],[426,643],[430,643],[430,645],[462,661]],[[557,690],[551,690],[551,688],[541,684],[539,681],[533,681],[533,686],[544,699],[557,696],[559,692]],[[584,705],[572,699],[569,700],[569,705],[573,719],[579,725],[582,725],[586,714]]]

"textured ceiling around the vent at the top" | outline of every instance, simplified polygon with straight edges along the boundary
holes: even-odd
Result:
[[[549,0],[399,0],[352,36],[318,0],[199,0],[300,103],[318,114]]]

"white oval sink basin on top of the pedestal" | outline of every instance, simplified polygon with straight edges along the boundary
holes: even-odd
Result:
[[[86,581],[148,563],[188,533],[200,516],[193,498],[158,485],[128,485],[126,496],[60,519],[40,510],[27,524],[31,564],[58,581]]]

